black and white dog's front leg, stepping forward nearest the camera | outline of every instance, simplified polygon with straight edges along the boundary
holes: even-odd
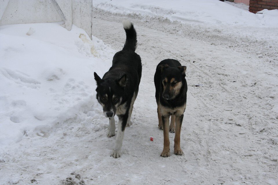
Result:
[[[125,127],[127,125],[127,118],[128,113],[123,115],[118,115],[119,122],[118,122],[118,132],[117,132],[117,138],[116,138],[116,144],[113,149],[113,152],[111,153],[111,156],[114,158],[118,158],[121,156],[121,148],[122,148],[122,139],[124,138],[125,133]]]

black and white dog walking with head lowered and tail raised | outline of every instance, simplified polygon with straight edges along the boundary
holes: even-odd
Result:
[[[126,41],[122,51],[117,52],[112,66],[101,79],[96,73],[96,98],[103,106],[104,116],[109,118],[107,136],[115,136],[115,114],[119,117],[116,145],[111,153],[114,158],[120,157],[125,127],[131,125],[131,113],[138,94],[142,75],[141,58],[135,53],[137,36],[133,24],[124,21]]]

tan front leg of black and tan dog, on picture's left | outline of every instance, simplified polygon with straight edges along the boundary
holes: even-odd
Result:
[[[160,154],[160,156],[162,156],[162,157],[170,156],[169,118],[170,118],[170,115],[162,116],[163,136],[164,136],[163,151]]]

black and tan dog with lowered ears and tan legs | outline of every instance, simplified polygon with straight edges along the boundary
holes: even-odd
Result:
[[[160,156],[170,156],[169,131],[175,132],[174,153],[182,155],[180,148],[180,131],[186,107],[187,83],[186,66],[174,59],[162,60],[156,67],[154,84],[156,86],[156,103],[158,127],[163,129],[164,147]],[[169,118],[171,124],[169,129]]]

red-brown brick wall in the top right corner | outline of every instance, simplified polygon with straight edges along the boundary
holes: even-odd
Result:
[[[249,12],[256,13],[264,9],[278,9],[278,0],[250,0]]]

